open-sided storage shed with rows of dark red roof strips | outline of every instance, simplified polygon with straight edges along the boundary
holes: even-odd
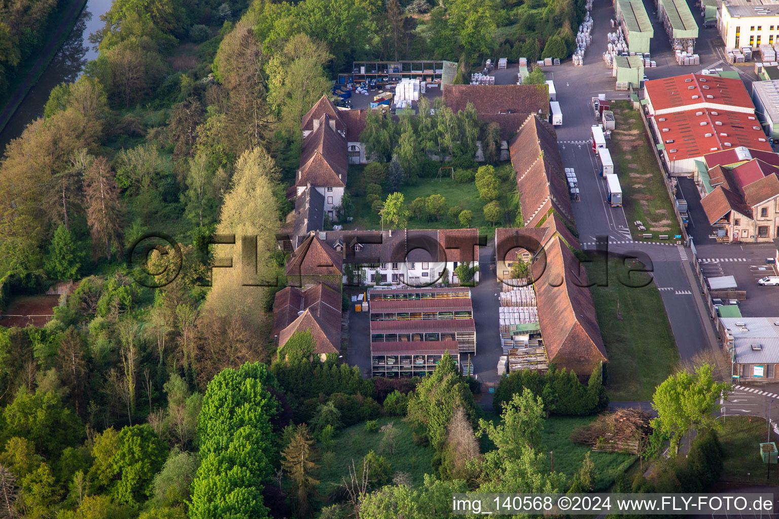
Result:
[[[374,288],[368,306],[373,376],[425,376],[446,352],[476,353],[470,289]]]

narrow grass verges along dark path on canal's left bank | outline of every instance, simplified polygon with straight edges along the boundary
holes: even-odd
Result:
[[[80,7],[78,7],[78,5],[80,5]],[[30,57],[27,58],[26,64],[22,68],[19,68],[19,70],[16,71],[16,74],[13,75],[7,90],[7,100],[5,103],[0,104],[0,114],[5,113],[6,108],[9,108],[8,112],[6,113],[6,117],[2,117],[2,119],[0,119],[0,132],[2,132],[3,128],[5,128],[5,124],[8,124],[8,121],[11,120],[11,117],[16,114],[16,109],[19,108],[19,105],[22,103],[30,89],[33,88],[33,86],[37,84],[38,80],[41,79],[41,76],[44,75],[44,72],[46,72],[49,63],[51,63],[51,60],[54,59],[55,55],[62,48],[62,44],[65,44],[65,40],[68,39],[70,33],[73,30],[73,27],[76,26],[76,22],[79,20],[79,16],[81,15],[81,11],[83,10],[84,5],[86,5],[86,0],[71,0],[70,2],[65,2],[65,4],[63,4],[57,10],[57,12],[51,15],[48,26],[44,30],[46,33],[51,35],[51,37],[53,37],[57,33],[57,26],[62,22],[62,19],[67,16],[71,9],[74,9],[74,7],[78,9],[76,16],[73,16],[72,19],[68,21],[68,26],[66,26],[65,30],[62,31],[62,34],[56,40],[55,45],[51,47],[51,52],[46,54],[44,60],[41,61],[41,67],[35,72],[35,75],[31,78],[30,82],[27,83],[23,95],[21,96],[16,96],[16,90],[19,89],[19,86],[23,85],[27,75],[36,65],[39,58],[39,53],[45,51],[46,47],[51,42],[42,42],[37,51],[33,52],[33,54],[30,54]],[[14,105],[9,106],[9,103],[14,103]]]

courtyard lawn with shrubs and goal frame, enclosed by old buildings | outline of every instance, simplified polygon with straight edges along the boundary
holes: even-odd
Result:
[[[364,165],[350,166],[349,175],[347,178],[347,192],[354,193],[355,188],[360,181],[362,170],[365,169]],[[511,172],[511,164],[501,163],[495,167],[497,176],[503,178],[501,181],[501,195],[499,202],[501,207],[504,208],[506,216],[504,218],[505,225],[513,225],[513,218],[516,216],[515,211],[509,210],[509,197],[513,191],[516,191],[516,182],[510,180],[509,173]],[[492,234],[495,232],[495,227],[490,225],[484,216],[484,206],[486,202],[479,197],[478,189],[474,182],[468,184],[458,184],[453,181],[451,177],[447,177],[448,170],[445,170],[442,174],[442,178],[419,178],[414,185],[404,185],[400,188],[400,192],[404,195],[406,205],[411,204],[414,198],[427,198],[430,195],[442,195],[446,198],[446,203],[449,207],[453,205],[459,205],[460,208],[470,209],[474,213],[471,227],[478,227],[481,233]],[[475,169],[474,169],[475,174]],[[382,199],[388,195],[385,190],[382,193]],[[354,196],[352,198],[354,203],[354,221],[352,226],[357,229],[381,229],[382,222],[379,219],[379,215],[371,211],[371,206],[364,196]],[[385,223],[386,224],[386,223]],[[503,225],[499,223],[499,225]],[[460,221],[454,221],[449,219],[446,214],[442,215],[438,220],[428,221],[426,219],[417,219],[413,215],[408,220],[408,229],[458,229],[460,228]]]

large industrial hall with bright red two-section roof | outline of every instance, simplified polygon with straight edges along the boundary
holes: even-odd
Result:
[[[644,110],[669,174],[693,173],[707,153],[771,149],[739,79],[677,75],[647,81],[644,91]]]

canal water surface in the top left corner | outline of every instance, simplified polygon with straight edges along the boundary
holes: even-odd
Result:
[[[86,61],[97,58],[97,51],[90,44],[89,36],[103,26],[100,16],[111,9],[111,0],[88,0],[68,39],[62,44],[55,57],[41,75],[41,79],[30,89],[16,109],[8,124],[0,132],[0,150],[22,134],[30,121],[44,114],[51,89],[59,83],[78,79]],[[32,58],[30,58],[32,59]]]

